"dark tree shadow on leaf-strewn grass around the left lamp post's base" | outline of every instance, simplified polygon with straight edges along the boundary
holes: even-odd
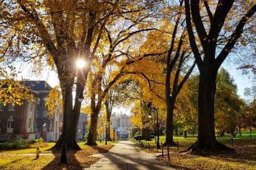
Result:
[[[48,163],[46,166],[44,166],[43,170],[48,169],[83,169],[80,162],[76,159],[76,152],[74,150],[68,150],[67,151],[67,162],[66,164],[60,163],[60,152],[61,150],[53,150],[52,154],[55,156],[55,158],[52,160],[52,162]]]

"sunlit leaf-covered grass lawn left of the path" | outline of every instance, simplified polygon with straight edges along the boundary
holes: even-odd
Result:
[[[108,142],[108,145],[99,143],[97,146],[88,146],[84,143],[79,143],[81,151],[68,151],[68,164],[59,163],[60,151],[47,151],[55,143],[40,148],[42,155],[39,159],[35,159],[35,155],[31,156],[35,154],[35,148],[0,151],[0,169],[83,169],[99,159],[89,155],[108,152],[115,144]]]

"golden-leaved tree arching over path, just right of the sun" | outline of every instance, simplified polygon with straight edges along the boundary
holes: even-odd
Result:
[[[116,83],[120,82],[125,75],[134,74],[129,70],[130,65],[133,65],[133,63],[139,59],[151,55],[140,55],[139,46],[135,44],[141,43],[139,37],[141,37],[143,33],[146,34],[148,31],[156,29],[152,28],[150,24],[147,24],[148,19],[154,18],[158,12],[158,10],[148,11],[148,8],[155,7],[154,2],[155,1],[138,3],[138,10],[123,12],[123,15],[109,20],[104,27],[102,41],[99,44],[101,50],[96,51],[97,57],[93,59],[92,69],[90,70],[90,109],[92,114],[87,141],[88,145],[97,145],[95,134],[98,113],[109,90],[111,90]],[[122,10],[122,8],[120,10]],[[137,17],[136,19],[134,19],[135,16]],[[127,22],[127,20],[129,22]],[[114,27],[117,21],[121,23],[124,22],[124,24]],[[138,37],[137,41],[134,37]],[[129,48],[124,47],[130,40],[133,40],[134,44]],[[130,48],[133,50],[130,50]],[[114,67],[114,70],[108,75],[107,69],[109,67]],[[102,82],[104,75],[109,77],[107,82]]]

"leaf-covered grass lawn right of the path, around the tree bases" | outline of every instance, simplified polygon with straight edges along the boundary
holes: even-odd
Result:
[[[160,143],[164,143],[164,136],[160,137]],[[217,137],[217,140],[225,143],[225,145],[232,147],[232,140],[230,135],[224,137]],[[250,132],[242,133],[240,137],[237,135],[234,140],[234,148],[236,152],[232,154],[216,154],[208,156],[189,155],[186,153],[179,153],[181,150],[185,150],[196,141],[196,137],[188,138],[181,136],[174,137],[174,141],[179,141],[179,151],[177,147],[170,147],[170,162],[168,162],[167,155],[160,156],[159,162],[170,164],[176,169],[256,169],[256,131],[252,132],[252,139],[250,139]],[[148,142],[148,141],[147,141]],[[155,139],[150,141],[151,150],[146,148],[142,150],[146,152],[156,152]],[[158,150],[158,152],[162,152]],[[167,153],[167,149],[164,148],[164,154]]]

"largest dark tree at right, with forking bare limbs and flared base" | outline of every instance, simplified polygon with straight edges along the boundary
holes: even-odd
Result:
[[[246,12],[242,6],[243,4],[240,6],[243,10],[235,11],[234,8],[236,5],[239,6],[239,3],[240,1],[234,3],[234,0],[220,0],[217,4],[210,1],[185,0],[185,15],[189,42],[200,72],[198,99],[199,134],[197,142],[188,148],[188,151],[192,154],[233,151],[216,140],[214,132],[214,97],[216,93],[218,69],[226,57],[228,57],[228,54],[232,51],[234,45],[238,42],[246,23],[248,23],[256,10],[255,3],[250,2],[246,5]],[[204,7],[205,12],[203,11]],[[233,10],[231,10],[232,7]],[[215,12],[212,14],[212,10],[214,9]],[[203,18],[201,17],[202,12],[208,16],[209,24],[203,22]],[[236,25],[234,31],[223,31],[222,28],[224,25],[229,23],[226,20],[229,19],[228,14],[232,15],[234,12],[240,12],[242,18],[240,18],[238,22],[232,23],[233,27]],[[201,52],[196,43],[191,16],[196,28],[196,33],[199,37],[201,45],[200,50],[202,50],[203,58],[201,58]],[[207,26],[208,28],[205,29]],[[232,33],[229,35],[230,32]],[[223,40],[223,36],[226,38],[225,40]],[[217,50],[219,44],[221,45],[221,50]]]

